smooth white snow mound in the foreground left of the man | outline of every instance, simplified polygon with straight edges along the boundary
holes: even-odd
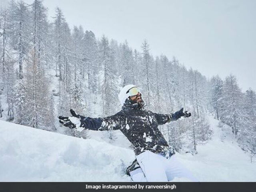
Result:
[[[130,149],[0,120],[0,181],[130,182]]]

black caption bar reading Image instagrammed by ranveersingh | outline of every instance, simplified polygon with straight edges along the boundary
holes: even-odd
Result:
[[[1,192],[255,192],[256,182],[0,182]]]

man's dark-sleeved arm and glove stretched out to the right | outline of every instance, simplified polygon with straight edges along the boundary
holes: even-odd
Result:
[[[183,108],[181,108],[179,111],[173,113],[173,114],[158,114],[154,113],[156,117],[156,121],[158,122],[159,125],[170,123],[171,121],[176,121],[180,117],[190,117],[191,113],[188,113],[188,111],[183,112]]]

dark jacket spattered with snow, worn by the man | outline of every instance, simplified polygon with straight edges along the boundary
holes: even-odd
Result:
[[[174,150],[168,145],[158,125],[177,120],[179,117],[178,112],[157,114],[145,110],[138,103],[132,104],[130,100],[126,100],[122,110],[112,116],[105,118],[80,116],[80,121],[81,126],[89,130],[120,130],[133,144],[136,155],[149,150],[168,158],[174,154]]]

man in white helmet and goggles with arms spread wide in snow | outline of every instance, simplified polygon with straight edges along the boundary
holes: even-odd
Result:
[[[175,121],[191,113],[183,108],[174,114],[157,114],[144,109],[142,94],[135,85],[126,85],[119,94],[122,110],[106,118],[90,118],[76,114],[72,117],[59,116],[60,123],[70,128],[89,130],[120,130],[133,144],[136,160],[127,168],[135,182],[166,182],[174,177],[185,177],[197,181],[173,156],[158,125]]]

